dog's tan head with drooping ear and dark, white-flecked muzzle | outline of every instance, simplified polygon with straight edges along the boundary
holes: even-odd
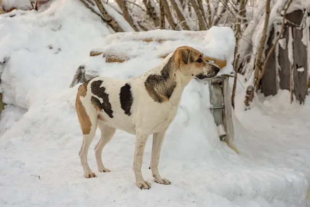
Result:
[[[182,46],[174,51],[175,61],[178,69],[184,76],[193,76],[197,79],[210,79],[217,75],[219,68],[206,62],[203,55],[197,49]]]

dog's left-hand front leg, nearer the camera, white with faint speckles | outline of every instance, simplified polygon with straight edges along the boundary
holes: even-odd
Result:
[[[149,135],[137,133],[136,135],[136,149],[133,170],[136,176],[136,185],[140,189],[150,189],[151,184],[144,180],[141,173],[142,160],[144,154],[145,143]]]

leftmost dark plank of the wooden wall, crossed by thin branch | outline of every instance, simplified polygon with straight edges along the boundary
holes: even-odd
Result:
[[[265,55],[267,56],[270,48],[272,47],[273,38],[275,36],[274,28],[270,31],[270,36],[267,40],[267,46],[268,48],[265,51]],[[270,58],[268,59],[268,62],[266,64],[266,70],[265,74],[261,80],[261,86],[262,86],[262,92],[264,96],[274,96],[278,93],[278,86],[277,86],[277,71],[276,71],[276,52],[274,51]]]

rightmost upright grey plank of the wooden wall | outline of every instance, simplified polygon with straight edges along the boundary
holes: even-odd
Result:
[[[302,43],[301,39],[303,36],[302,30],[293,28],[294,38],[294,65],[293,65],[293,76],[294,76],[294,94],[296,99],[300,103],[305,102],[307,95],[307,80],[308,80],[308,65],[307,65],[307,47]],[[303,67],[301,71],[298,68]]]

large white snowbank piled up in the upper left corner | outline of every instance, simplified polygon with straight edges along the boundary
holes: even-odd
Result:
[[[109,33],[100,18],[76,0],[57,0],[42,12],[1,15],[0,62],[9,58],[0,71],[3,101],[28,109],[50,90],[65,88],[81,60]]]

